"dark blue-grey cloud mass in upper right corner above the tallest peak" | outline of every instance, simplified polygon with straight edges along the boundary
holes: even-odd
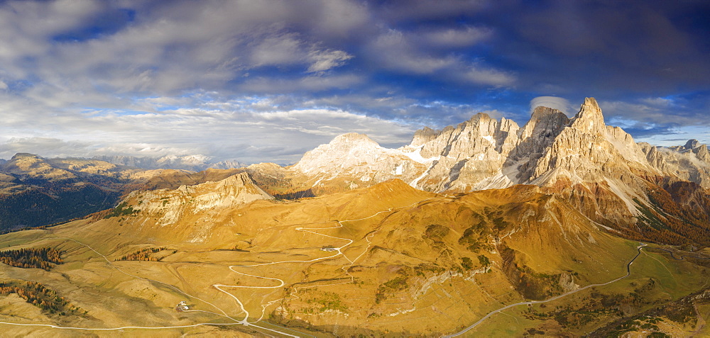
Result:
[[[481,19],[498,28],[492,52],[530,89],[621,97],[708,86],[703,15],[707,1],[504,1]]]

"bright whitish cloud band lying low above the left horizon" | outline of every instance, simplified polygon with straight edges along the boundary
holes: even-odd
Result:
[[[189,107],[185,100],[141,100],[146,112],[102,110],[48,114],[46,118],[16,114],[4,119],[6,130],[14,133],[0,140],[0,158],[16,152],[43,157],[201,154],[217,160],[293,163],[303,152],[341,133],[367,133],[378,142],[404,144],[415,129],[337,109],[279,110],[273,106],[276,101],[268,99],[219,102],[193,98]],[[175,102],[185,107],[168,108]],[[267,107],[271,110],[259,111]]]

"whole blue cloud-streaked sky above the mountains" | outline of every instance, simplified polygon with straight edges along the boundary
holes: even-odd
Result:
[[[2,1],[0,158],[297,162],[595,97],[637,141],[710,142],[710,1]]]

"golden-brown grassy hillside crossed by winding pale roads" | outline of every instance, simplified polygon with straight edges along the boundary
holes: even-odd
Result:
[[[570,293],[492,315],[471,334],[581,335],[678,302],[701,291],[706,279],[702,259],[644,249],[628,278],[575,292],[626,276],[639,244],[602,231],[535,186],[444,196],[394,180],[317,198],[204,209],[190,200],[163,205],[160,193],[152,193],[154,202],[133,194],[121,209],[131,213],[2,235],[11,249],[57,249],[64,264],[50,271],[0,266],[0,282],[37,281],[86,315],[53,317],[0,295],[11,304],[0,310],[0,322],[224,324],[151,331],[161,335],[239,336],[266,328],[317,337],[443,335],[504,305]],[[195,312],[176,311],[181,300]],[[256,326],[239,324],[244,320]]]

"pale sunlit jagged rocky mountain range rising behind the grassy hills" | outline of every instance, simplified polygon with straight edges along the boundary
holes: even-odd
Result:
[[[365,135],[341,135],[307,152],[293,169],[330,180],[364,174],[361,181],[376,183],[398,176],[430,191],[474,191],[513,184],[552,186],[559,179],[638,186],[633,176],[640,172],[707,187],[709,167],[706,145],[694,140],[667,149],[636,144],[621,128],[605,125],[596,100],[586,98],[574,118],[537,107],[519,128],[512,120],[479,113],[455,127],[417,130],[411,144],[398,150],[380,147]]]

